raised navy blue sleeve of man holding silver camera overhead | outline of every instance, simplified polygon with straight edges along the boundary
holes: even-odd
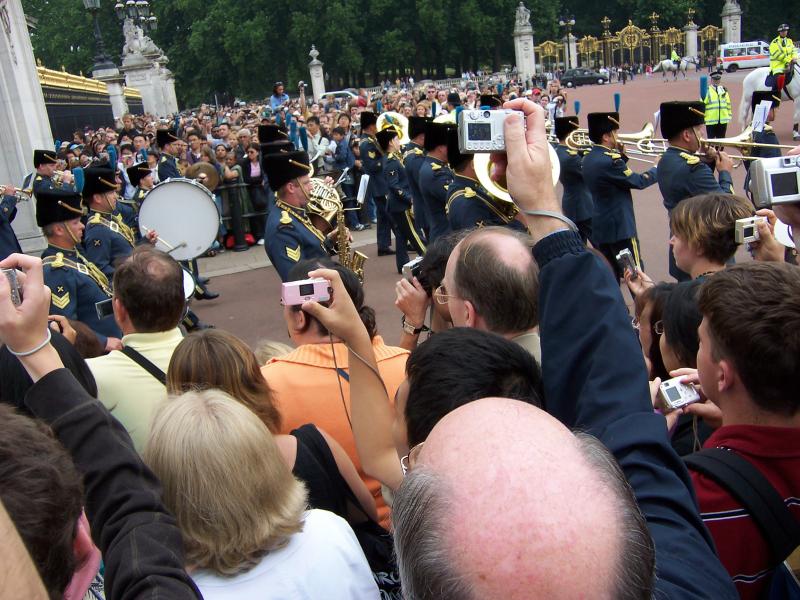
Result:
[[[738,598],[664,418],[653,412],[642,351],[608,265],[573,232],[554,233],[533,252],[545,408],[617,459],[655,543],[654,597]]]

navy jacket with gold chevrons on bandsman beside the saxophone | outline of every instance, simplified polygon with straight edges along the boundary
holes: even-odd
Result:
[[[309,258],[327,258],[328,251],[325,236],[311,224],[305,210],[280,200],[275,207],[267,215],[264,249],[281,281],[286,281],[295,264]]]

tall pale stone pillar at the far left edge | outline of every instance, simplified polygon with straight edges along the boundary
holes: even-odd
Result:
[[[34,148],[53,148],[53,134],[36,73],[20,0],[0,2],[0,184],[22,186]],[[44,249],[34,202],[20,202],[13,227],[25,252]]]

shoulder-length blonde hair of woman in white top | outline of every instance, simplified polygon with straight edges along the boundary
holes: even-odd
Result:
[[[303,529],[305,487],[261,420],[224,392],[165,402],[144,460],[161,480],[192,568],[243,573]]]

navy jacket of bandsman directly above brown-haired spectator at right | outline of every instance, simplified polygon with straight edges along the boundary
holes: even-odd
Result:
[[[714,172],[699,157],[670,146],[658,161],[658,188],[668,212],[681,200],[709,192],[733,193],[731,174],[723,171],[719,182]]]

